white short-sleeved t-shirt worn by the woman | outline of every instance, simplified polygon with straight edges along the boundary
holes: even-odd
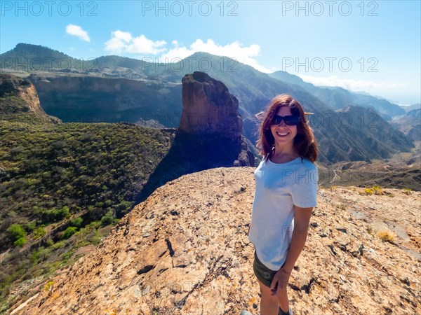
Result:
[[[294,205],[316,207],[319,172],[309,160],[286,163],[262,159],[255,169],[255,196],[248,239],[259,260],[274,271],[286,261],[293,238]]]

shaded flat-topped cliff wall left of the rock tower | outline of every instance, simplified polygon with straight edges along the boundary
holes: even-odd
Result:
[[[166,127],[178,127],[180,123],[180,84],[71,73],[27,79],[36,86],[46,112],[65,123],[136,123],[151,119]]]

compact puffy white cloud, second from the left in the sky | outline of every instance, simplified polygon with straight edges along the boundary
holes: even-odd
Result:
[[[164,52],[166,41],[152,41],[145,35],[133,37],[127,31],[112,31],[111,38],[105,43],[105,50],[109,52],[121,53],[128,52],[132,54],[157,55]]]

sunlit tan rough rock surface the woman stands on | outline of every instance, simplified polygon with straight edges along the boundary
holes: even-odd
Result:
[[[259,314],[247,237],[253,172],[209,169],[167,183],[15,314]],[[295,314],[421,314],[421,193],[384,193],[319,189],[288,286]],[[395,241],[376,235],[380,223]]]

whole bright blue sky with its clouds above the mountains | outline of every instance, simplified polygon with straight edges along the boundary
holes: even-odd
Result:
[[[83,59],[171,64],[207,51],[260,71],[415,104],[420,2],[1,1],[0,52],[32,43]]]

